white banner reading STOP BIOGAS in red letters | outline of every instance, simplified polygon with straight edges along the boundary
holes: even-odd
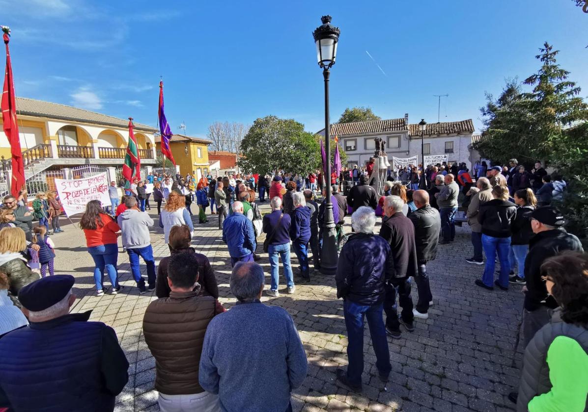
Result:
[[[59,200],[64,205],[68,217],[83,213],[86,204],[91,200],[99,200],[102,205],[110,205],[108,183],[106,172],[83,179],[55,179]]]

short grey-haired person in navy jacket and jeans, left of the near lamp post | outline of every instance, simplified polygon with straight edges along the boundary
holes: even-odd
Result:
[[[290,213],[292,220],[292,224],[290,225],[290,239],[292,239],[292,247],[300,264],[302,283],[308,283],[310,282],[308,241],[310,240],[310,215],[312,212],[306,207],[306,200],[302,193],[293,193],[292,200],[294,210]]]

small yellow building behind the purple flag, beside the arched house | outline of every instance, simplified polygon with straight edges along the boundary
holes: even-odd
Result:
[[[181,175],[193,174],[198,180],[209,173],[208,145],[212,141],[202,137],[174,134],[169,143],[173,160],[179,166]],[[158,156],[161,155],[161,137],[155,137]]]

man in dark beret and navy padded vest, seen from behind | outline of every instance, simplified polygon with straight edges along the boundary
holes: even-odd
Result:
[[[129,380],[116,333],[69,313],[74,276],[39,279],[18,293],[30,325],[0,339],[0,408],[15,411],[113,411]]]

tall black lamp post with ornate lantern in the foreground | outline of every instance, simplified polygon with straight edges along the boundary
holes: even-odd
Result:
[[[323,24],[312,33],[316,43],[316,58],[319,66],[323,69],[323,77],[325,78],[325,151],[327,164],[324,176],[326,186],[326,198],[324,201],[326,204],[320,273],[324,275],[335,275],[339,256],[337,254],[335,219],[333,219],[333,202],[331,201],[330,186],[329,69],[335,64],[340,30],[330,25],[331,16],[322,16],[320,21]]]

